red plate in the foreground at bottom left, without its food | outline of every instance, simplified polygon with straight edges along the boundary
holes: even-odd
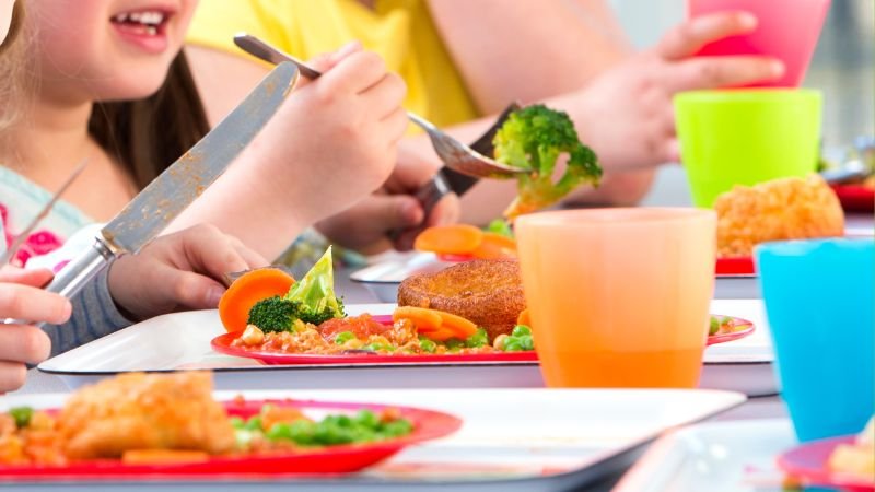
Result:
[[[373,403],[341,403],[295,400],[228,401],[230,415],[248,418],[258,413],[265,403],[294,406],[304,411],[331,413],[352,412],[362,409],[375,412],[385,408],[400,410],[401,417],[413,423],[413,431],[399,438],[365,444],[343,444],[295,453],[211,457],[207,461],[167,465],[125,465],[117,459],[89,460],[63,467],[0,466],[0,483],[14,479],[58,481],[79,478],[142,478],[188,477],[199,480],[215,480],[230,476],[279,476],[300,473],[346,473],[358,471],[398,453],[405,446],[443,437],[462,426],[462,421],[447,413],[409,407]]]

